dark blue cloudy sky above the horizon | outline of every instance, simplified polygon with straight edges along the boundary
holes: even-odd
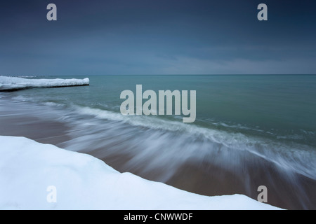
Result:
[[[316,73],[314,0],[1,1],[0,34],[4,76]]]

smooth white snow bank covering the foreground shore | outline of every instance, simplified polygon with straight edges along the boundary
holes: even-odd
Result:
[[[0,143],[0,209],[278,209],[245,195],[188,193],[24,137]],[[48,186],[56,202],[48,202]]]

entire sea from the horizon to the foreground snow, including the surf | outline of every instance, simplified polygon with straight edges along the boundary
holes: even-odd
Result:
[[[90,79],[87,86],[0,92],[3,108],[14,104],[21,116],[64,123],[62,148],[201,195],[258,200],[265,186],[269,204],[316,209],[315,75],[26,78]],[[174,114],[122,115],[120,94],[136,96],[136,85],[157,96],[159,90],[195,90],[195,122]]]

